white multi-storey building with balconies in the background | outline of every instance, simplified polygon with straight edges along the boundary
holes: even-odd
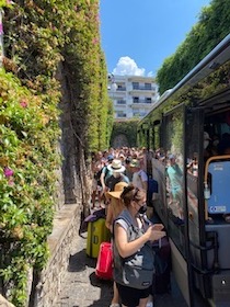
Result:
[[[158,100],[152,77],[108,76],[108,95],[114,103],[115,121],[142,118]]]

